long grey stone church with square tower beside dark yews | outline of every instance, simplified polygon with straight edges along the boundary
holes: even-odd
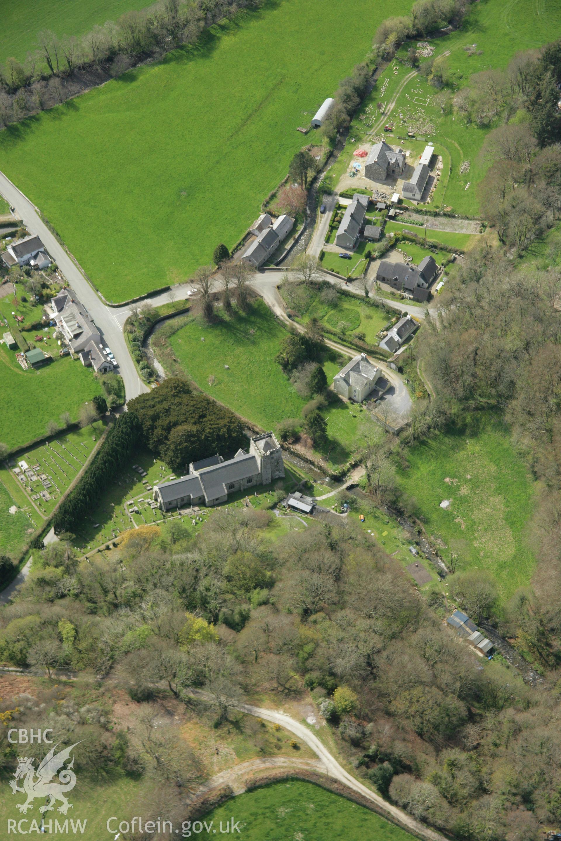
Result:
[[[283,452],[273,432],[265,432],[251,438],[249,452],[238,450],[234,458],[216,455],[189,464],[188,475],[155,486],[154,500],[164,511],[183,505],[219,505],[236,491],[283,478]]]

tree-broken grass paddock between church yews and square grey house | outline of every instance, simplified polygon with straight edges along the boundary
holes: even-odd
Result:
[[[173,329],[168,322],[170,332],[161,334],[167,336],[165,345],[169,345],[183,371],[214,399],[263,429],[276,429],[284,418],[300,415],[307,399],[299,396],[274,362],[286,331],[261,300],[255,301],[246,314],[227,318],[220,313],[212,325],[190,317],[177,332]],[[157,338],[153,347],[157,354]],[[328,352],[323,367],[331,383],[339,370],[335,352]],[[214,378],[212,384],[209,378]],[[332,464],[344,463],[355,449],[362,412],[362,407],[342,402],[322,410],[332,439],[327,448]]]

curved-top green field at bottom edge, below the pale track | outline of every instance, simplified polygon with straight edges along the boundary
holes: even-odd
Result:
[[[245,841],[412,841],[375,812],[302,780],[284,780],[226,801],[204,817],[207,825],[240,822]],[[214,829],[214,833],[216,830]],[[212,838],[213,830],[198,838]]]

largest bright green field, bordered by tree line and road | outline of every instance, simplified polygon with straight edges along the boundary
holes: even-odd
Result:
[[[238,240],[305,142],[296,128],[409,6],[270,0],[3,131],[0,168],[106,298],[181,280]]]

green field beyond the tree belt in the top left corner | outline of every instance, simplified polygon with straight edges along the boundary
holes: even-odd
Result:
[[[50,29],[59,37],[80,36],[131,8],[146,5],[146,0],[27,0],[24,8],[19,3],[3,3],[0,64],[8,57],[24,61],[28,52],[37,50],[37,35],[42,30]]]

